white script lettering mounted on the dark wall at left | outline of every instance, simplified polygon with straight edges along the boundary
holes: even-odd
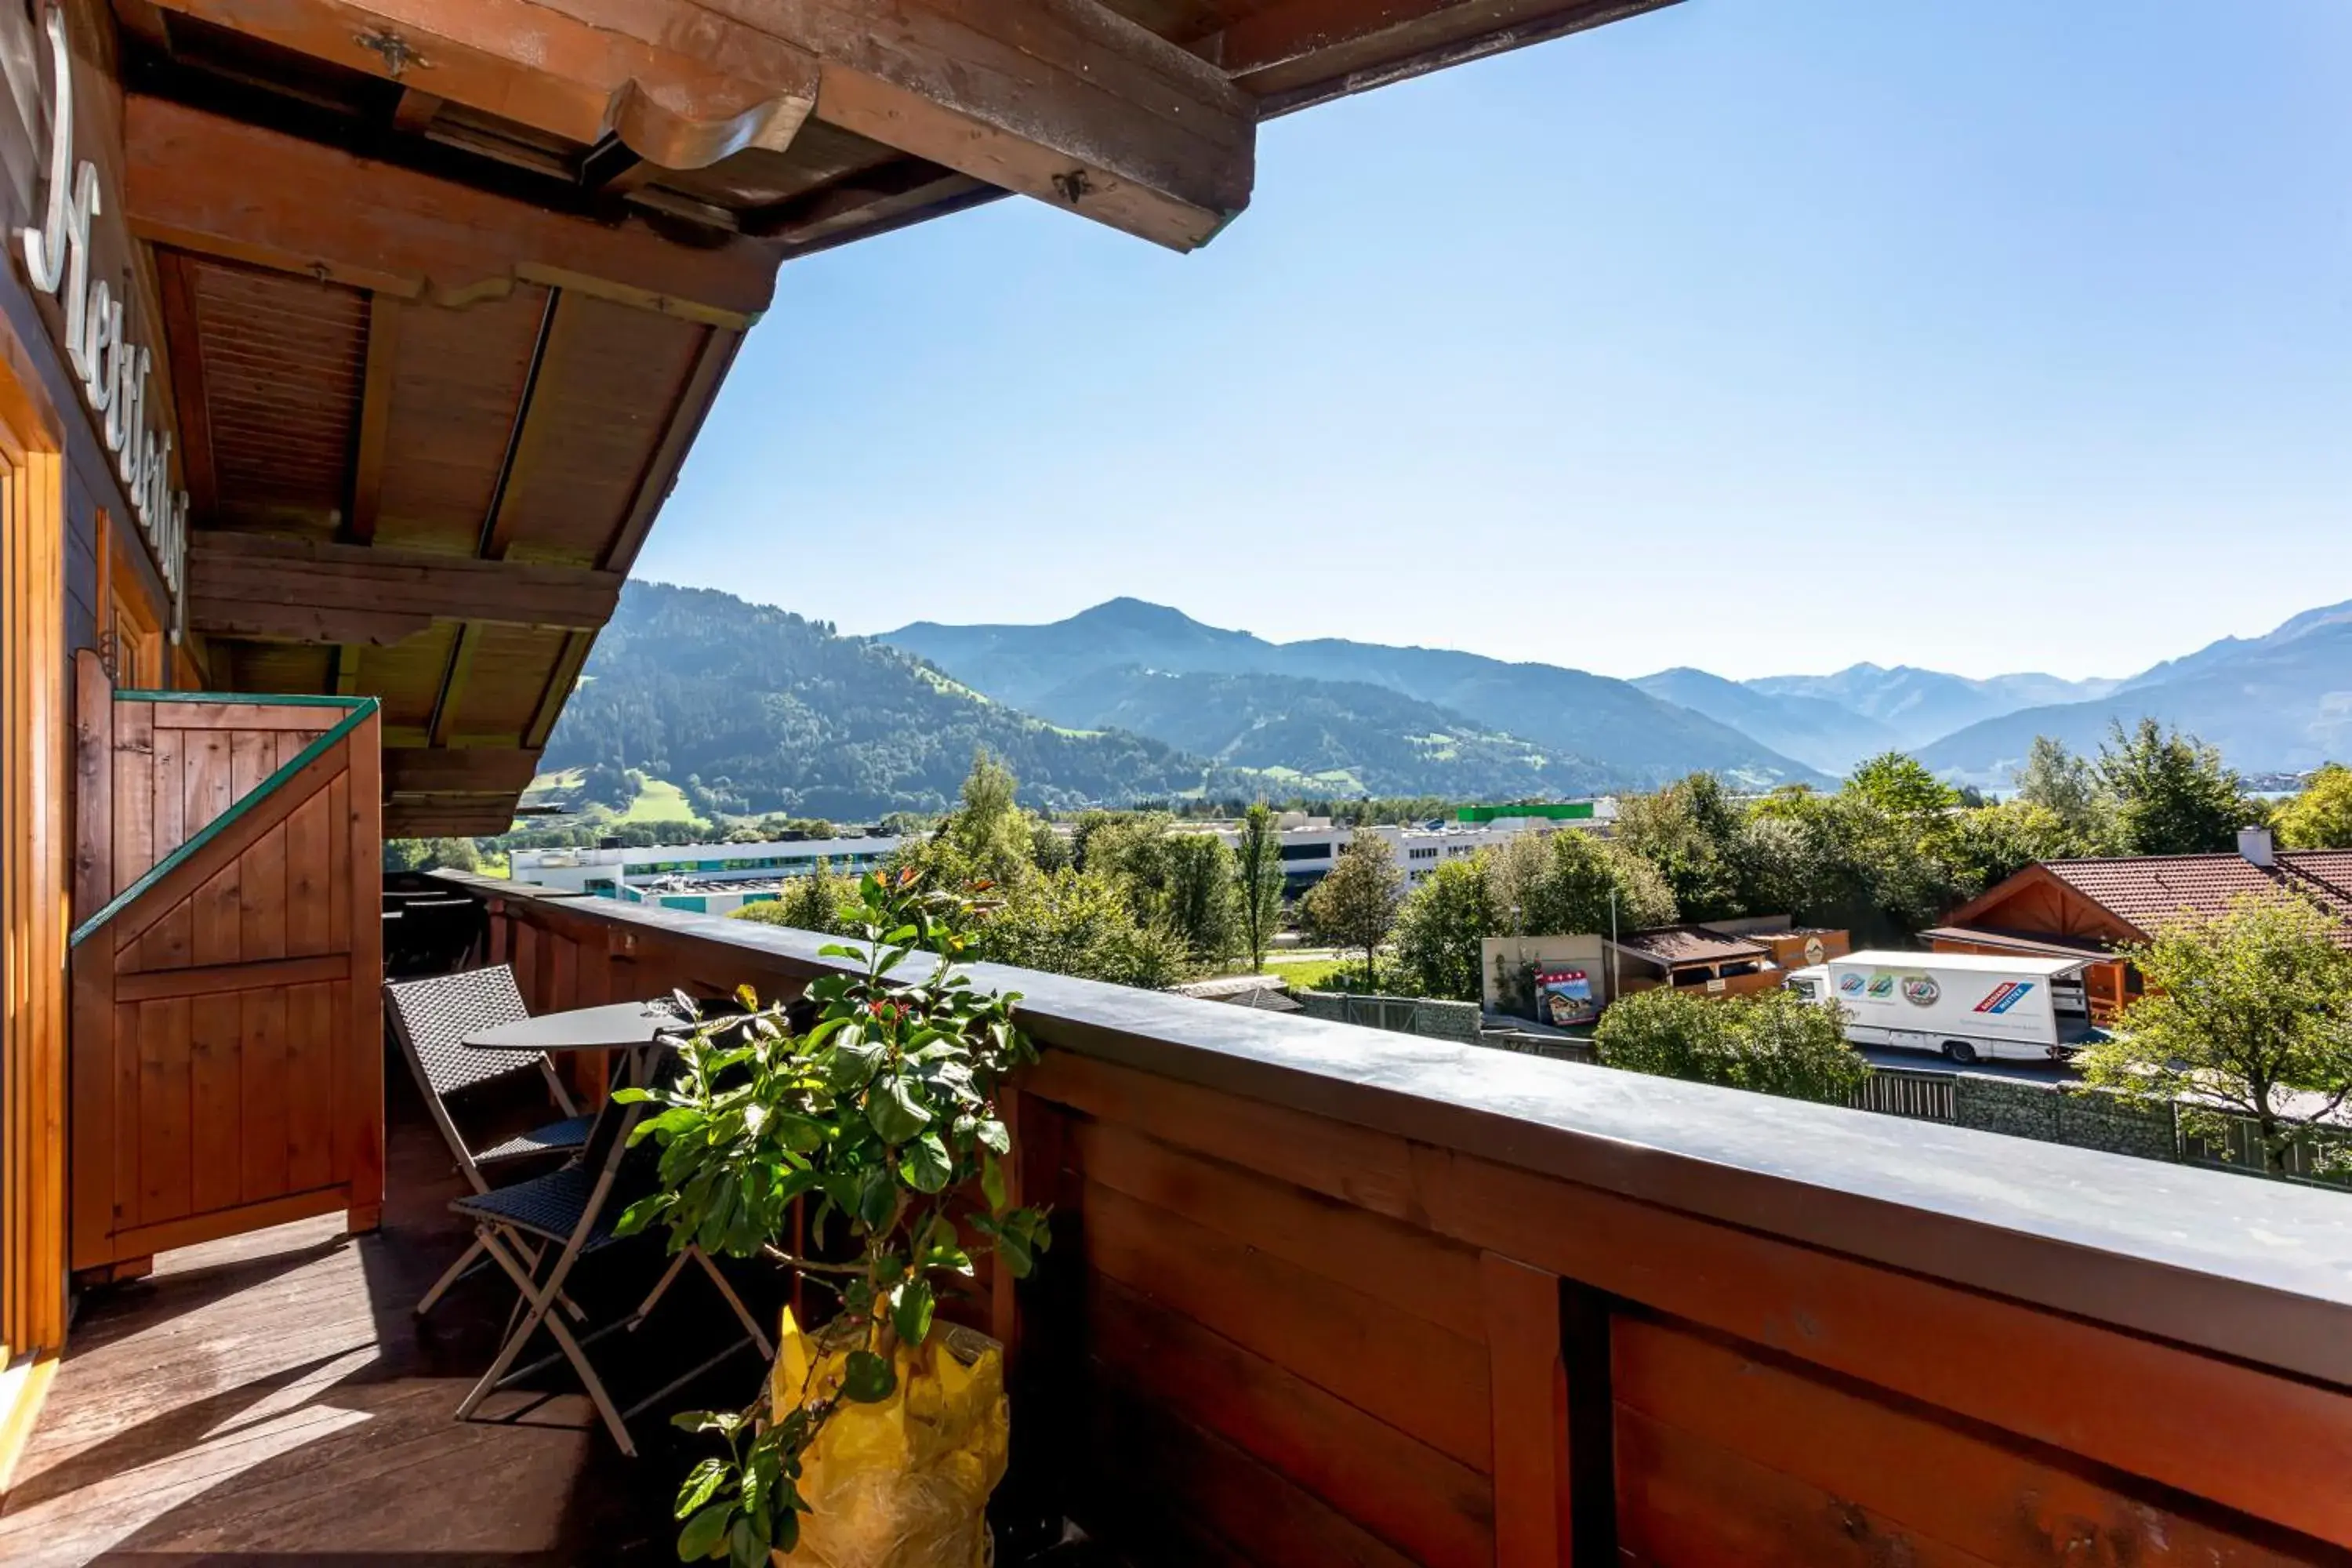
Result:
[[[49,216],[24,230],[24,270],[40,294],[64,289],[66,360],[82,383],[82,400],[99,416],[115,475],[132,498],[139,534],[146,536],[165,592],[172,595],[174,628],[181,623],[181,581],[188,562],[188,491],[172,489],[172,435],[148,423],[148,374],[155,357],[132,343],[122,327],[122,301],[103,277],[89,280],[89,221],[99,216],[99,169],[73,160],[73,52],[66,47],[66,14],[49,9],[49,54],[56,101],[49,110]],[[174,630],[174,642],[179,639]]]

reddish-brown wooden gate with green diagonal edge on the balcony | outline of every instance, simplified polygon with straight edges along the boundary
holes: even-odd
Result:
[[[75,665],[71,1255],[383,1206],[374,698]]]

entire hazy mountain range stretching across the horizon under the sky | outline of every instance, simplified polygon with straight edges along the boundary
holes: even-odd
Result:
[[[2034,736],[2096,750],[2143,715],[2241,771],[2352,757],[2352,602],[2126,679],[1907,665],[1748,682],[1611,679],[1449,649],[1268,642],[1141,599],[1047,625],[920,621],[882,637],[715,590],[630,583],[543,766],[635,766],[703,811],[936,811],[976,748],[1044,806],[1188,792],[1524,799],[1828,785],[1910,750],[2004,788]]]

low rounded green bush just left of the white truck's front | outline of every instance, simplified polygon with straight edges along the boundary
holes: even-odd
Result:
[[[1785,990],[1719,999],[1635,992],[1602,1013],[1592,1046],[1606,1067],[1823,1105],[1849,1105],[1870,1077],[1839,1009]]]

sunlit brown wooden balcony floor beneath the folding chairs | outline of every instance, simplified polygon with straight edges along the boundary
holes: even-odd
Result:
[[[644,1458],[621,1458],[562,1368],[546,1392],[487,1403],[492,1420],[452,1418],[513,1291],[477,1274],[428,1321],[409,1312],[466,1232],[445,1208],[459,1178],[402,1088],[381,1232],[282,1225],[167,1253],[151,1279],[82,1302],[0,1507],[0,1563],[677,1561],[666,1495],[691,1455],[666,1422],[642,1418]],[[708,1291],[673,1295],[635,1359],[710,1342],[713,1312]],[[729,1361],[684,1399],[746,1399],[753,1366]],[[668,1375],[616,1371],[623,1403],[633,1373]]]

